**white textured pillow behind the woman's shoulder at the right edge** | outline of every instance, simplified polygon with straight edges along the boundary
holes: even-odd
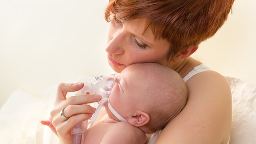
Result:
[[[232,92],[230,144],[256,144],[256,87],[237,78],[226,78]]]

